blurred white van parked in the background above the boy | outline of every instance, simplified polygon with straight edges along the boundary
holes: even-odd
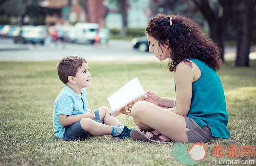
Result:
[[[78,22],[75,24],[77,43],[94,43],[94,37],[99,30],[99,24]]]

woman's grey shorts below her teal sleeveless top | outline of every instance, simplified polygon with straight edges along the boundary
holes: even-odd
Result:
[[[208,125],[202,128],[195,122],[194,119],[189,117],[184,117],[186,121],[186,128],[190,130],[187,131],[188,142],[206,142],[215,138],[212,136],[211,129]]]

